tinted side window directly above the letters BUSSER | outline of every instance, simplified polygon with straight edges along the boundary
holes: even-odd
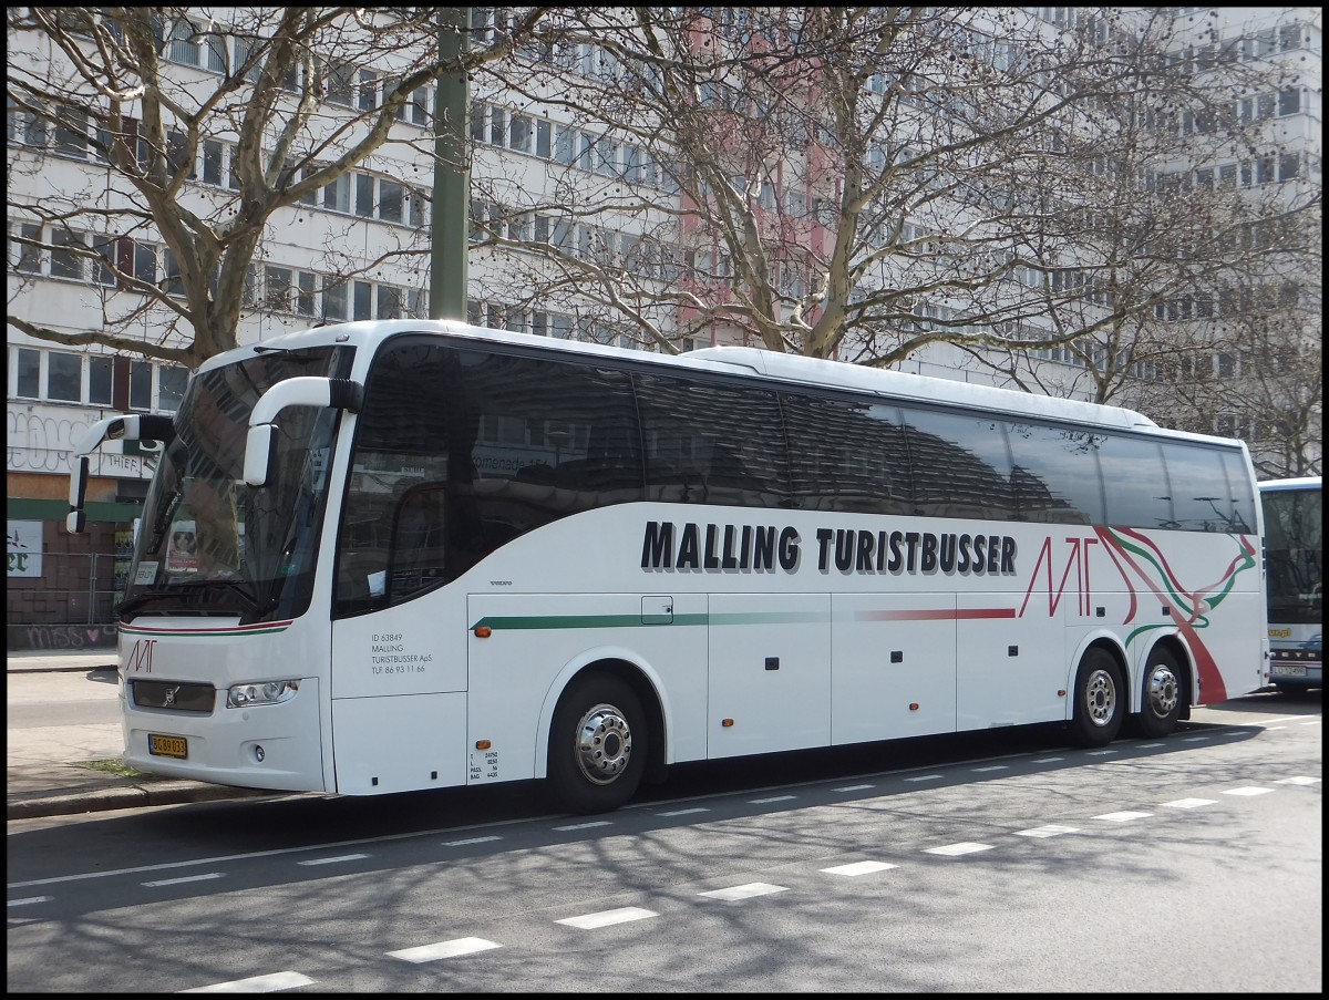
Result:
[[[986,416],[905,410],[914,512],[925,517],[1015,516],[1006,427]]]

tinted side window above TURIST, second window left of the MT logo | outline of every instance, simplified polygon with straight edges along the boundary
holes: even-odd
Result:
[[[863,400],[781,394],[789,479],[809,511],[908,513],[909,452],[900,411]]]

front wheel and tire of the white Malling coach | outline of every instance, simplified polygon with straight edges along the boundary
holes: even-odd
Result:
[[[606,674],[583,674],[558,699],[549,729],[549,785],[569,812],[610,812],[642,782],[646,713],[633,689]]]

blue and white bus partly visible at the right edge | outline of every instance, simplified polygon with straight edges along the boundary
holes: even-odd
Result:
[[[1320,476],[1267,479],[1264,557],[1269,581],[1269,684],[1322,686],[1324,507]]]

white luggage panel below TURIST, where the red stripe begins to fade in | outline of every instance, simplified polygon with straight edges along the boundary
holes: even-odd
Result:
[[[956,594],[835,594],[832,742],[953,733]]]

